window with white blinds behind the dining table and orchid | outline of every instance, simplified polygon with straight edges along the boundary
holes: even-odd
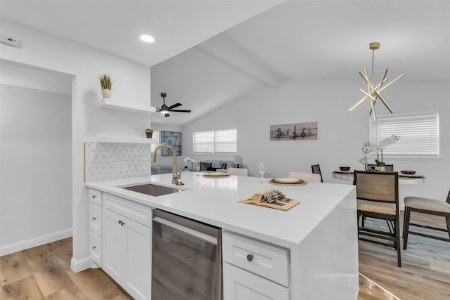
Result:
[[[371,143],[378,143],[392,134],[399,141],[388,145],[383,155],[389,157],[439,157],[439,113],[416,112],[378,116],[371,119]]]

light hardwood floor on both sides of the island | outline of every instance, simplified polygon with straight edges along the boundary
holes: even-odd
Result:
[[[444,227],[443,218],[413,217]],[[401,254],[403,266],[398,268],[394,249],[359,242],[357,300],[450,299],[449,242],[410,235]],[[71,258],[71,238],[1,256],[0,299],[132,299],[101,269],[73,273]]]

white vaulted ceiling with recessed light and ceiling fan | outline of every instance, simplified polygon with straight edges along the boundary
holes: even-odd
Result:
[[[152,70],[152,122],[185,124],[262,86],[375,77],[449,82],[450,1],[0,1],[0,17]],[[143,44],[139,34],[156,42]],[[362,84],[359,87],[363,87]]]

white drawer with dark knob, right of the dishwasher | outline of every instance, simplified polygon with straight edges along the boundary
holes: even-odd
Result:
[[[222,233],[224,261],[289,287],[288,249],[233,233]]]

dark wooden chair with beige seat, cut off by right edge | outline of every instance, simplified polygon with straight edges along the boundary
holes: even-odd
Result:
[[[423,198],[423,197],[405,197],[405,216],[403,226],[403,249],[406,250],[408,245],[408,235],[420,235],[423,237],[430,237],[436,240],[443,240],[450,242],[450,191],[447,195],[447,200],[439,201],[435,199]],[[433,226],[425,226],[418,223],[411,223],[411,211],[420,212],[422,214],[432,214],[435,216],[444,216],[447,228],[437,228]],[[439,237],[437,235],[430,235],[428,233],[419,233],[417,231],[411,231],[409,226],[416,226],[420,228],[426,228],[430,230],[444,231],[449,234],[449,238]]]

